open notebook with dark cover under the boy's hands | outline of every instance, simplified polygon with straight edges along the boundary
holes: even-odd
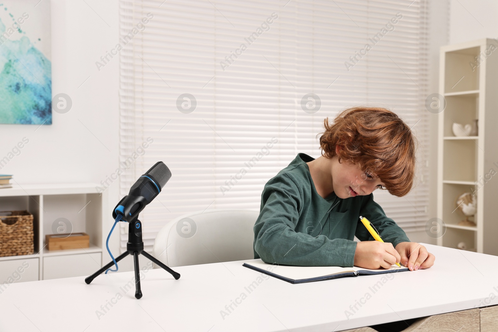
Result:
[[[383,274],[408,271],[407,267],[392,265],[390,269],[380,268],[377,270],[362,267],[340,267],[340,266],[290,266],[277,265],[263,262],[257,259],[242,264],[249,269],[265,273],[272,277],[285,280],[291,284],[303,282],[328,280],[346,276],[358,277],[359,275]]]

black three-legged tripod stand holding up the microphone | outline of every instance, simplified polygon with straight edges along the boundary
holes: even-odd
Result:
[[[165,264],[157,260],[154,256],[146,251],[143,251],[143,241],[142,241],[142,223],[138,220],[138,216],[129,222],[128,224],[128,243],[126,243],[126,251],[116,257],[116,263],[122,260],[127,255],[133,255],[134,265],[135,265],[135,298],[139,299],[142,297],[142,291],[140,290],[140,267],[138,265],[138,255],[142,254],[148,259],[150,259],[155,264],[159,265],[171,275],[178,280],[180,278],[180,273],[173,271]],[[114,265],[114,261],[109,262],[106,266],[95,272],[89,277],[85,278],[85,282],[90,284],[99,274]]]

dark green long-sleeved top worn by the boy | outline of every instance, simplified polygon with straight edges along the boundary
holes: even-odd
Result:
[[[409,242],[405,232],[373,201],[373,194],[341,199],[321,197],[299,153],[264,186],[254,224],[254,258],[298,266],[353,266],[357,242],[373,240],[360,221],[366,217],[384,242]]]

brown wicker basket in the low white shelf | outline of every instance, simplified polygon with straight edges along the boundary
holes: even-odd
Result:
[[[0,212],[0,257],[33,253],[33,215],[27,211]]]

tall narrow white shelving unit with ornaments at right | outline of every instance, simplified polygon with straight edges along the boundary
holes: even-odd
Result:
[[[498,255],[498,42],[441,47],[439,74],[446,109],[438,119],[437,214],[447,228],[437,244],[453,248],[463,241],[468,250]],[[454,122],[473,119],[478,119],[477,136],[454,136]],[[490,176],[492,169],[497,174]],[[476,195],[477,226],[458,224],[465,217],[455,210],[455,200],[465,192]]]

